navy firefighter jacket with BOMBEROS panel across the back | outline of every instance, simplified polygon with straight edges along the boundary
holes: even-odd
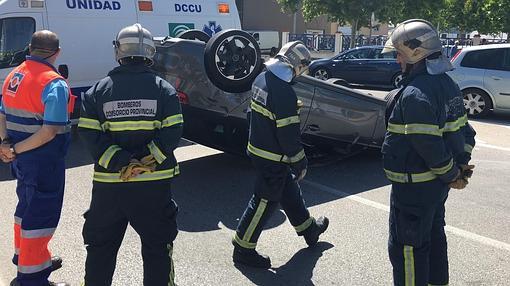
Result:
[[[167,180],[179,174],[173,151],[183,117],[175,89],[143,65],[119,66],[84,95],[78,124],[95,160],[94,182],[122,183],[131,159],[152,154],[156,171],[128,182]]]

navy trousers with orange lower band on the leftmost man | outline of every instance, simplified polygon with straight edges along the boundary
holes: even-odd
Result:
[[[14,256],[22,286],[48,285],[50,242],[62,211],[65,184],[63,158],[16,159],[11,171],[18,180],[14,213]]]

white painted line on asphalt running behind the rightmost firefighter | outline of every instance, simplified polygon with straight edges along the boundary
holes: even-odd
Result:
[[[346,199],[349,199],[349,200],[352,200],[352,201],[355,201],[355,202],[358,202],[358,203],[364,204],[366,206],[369,206],[369,207],[372,207],[372,208],[375,208],[375,209],[379,209],[379,210],[382,210],[382,211],[385,211],[385,212],[388,212],[388,213],[390,211],[390,207],[385,205],[385,204],[374,202],[374,201],[362,198],[362,197],[357,196],[357,195],[351,195],[351,194],[348,194],[346,192],[342,192],[340,190],[337,190],[337,189],[334,189],[334,188],[331,188],[331,187],[328,187],[328,186],[324,186],[322,184],[315,183],[315,182],[312,182],[312,181],[304,180],[302,182],[304,183],[304,185],[308,185],[308,186],[310,186],[312,188],[315,188],[315,189],[318,189],[320,191],[324,191],[324,192],[333,194],[335,196],[341,196],[343,198],[346,198]],[[465,238],[465,239],[469,239],[471,241],[475,241],[475,242],[481,243],[483,245],[491,246],[491,247],[498,248],[498,249],[501,249],[501,250],[510,251],[510,244],[502,242],[502,241],[499,241],[499,240],[495,240],[495,239],[492,239],[492,238],[489,238],[489,237],[485,237],[485,236],[482,236],[482,235],[479,235],[479,234],[476,234],[476,233],[473,233],[473,232],[469,232],[469,231],[466,231],[466,230],[463,230],[463,229],[460,229],[460,228],[456,228],[456,227],[453,227],[453,226],[449,226],[449,225],[447,225],[445,227],[445,230],[447,232],[449,232],[449,233],[454,234],[454,235],[460,236],[460,237]]]

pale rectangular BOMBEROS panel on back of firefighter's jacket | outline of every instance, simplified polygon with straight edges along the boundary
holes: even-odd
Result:
[[[103,104],[103,112],[107,119],[155,117],[157,109],[157,100],[151,99],[110,101]]]

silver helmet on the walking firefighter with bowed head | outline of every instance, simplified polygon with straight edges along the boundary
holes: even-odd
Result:
[[[291,82],[293,78],[304,74],[312,60],[312,55],[300,41],[285,44],[266,67],[280,79]]]

